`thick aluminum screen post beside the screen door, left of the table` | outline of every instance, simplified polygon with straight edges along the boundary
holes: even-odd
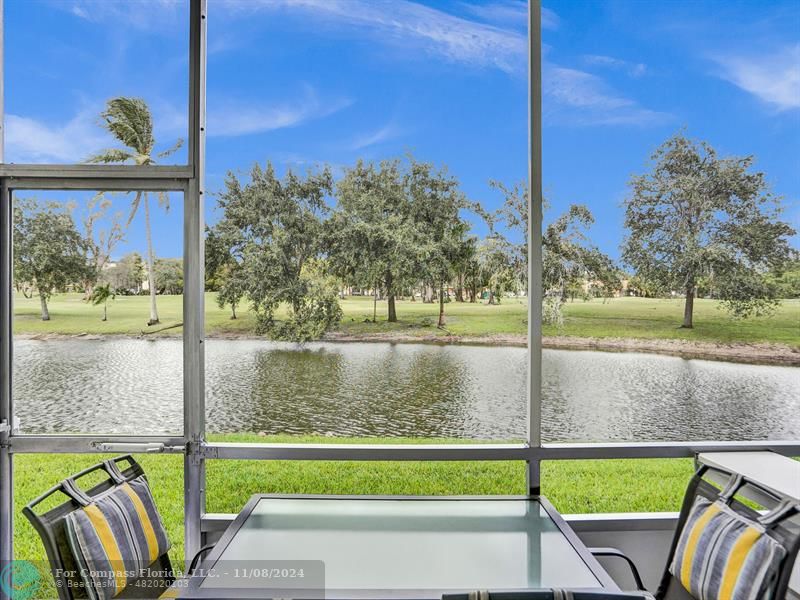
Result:
[[[186,566],[202,547],[205,512],[205,171],[206,0],[191,0],[189,23],[189,166],[183,228],[183,435],[184,552]]]

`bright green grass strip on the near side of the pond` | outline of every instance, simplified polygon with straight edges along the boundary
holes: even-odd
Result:
[[[320,438],[218,436],[226,441],[319,442]],[[325,438],[326,442],[332,441]],[[354,442],[341,439],[336,441]],[[363,440],[362,440],[363,441]],[[369,440],[420,442],[421,440]],[[15,457],[15,555],[45,560],[38,536],[21,515],[25,503],[60,479],[98,462],[102,455],[17,455]],[[183,559],[183,458],[138,457],[173,541]],[[560,461],[543,465],[543,493],[562,513],[675,511],[691,476],[692,462],[679,460]],[[238,512],[251,494],[523,494],[519,462],[287,462],[210,461],[207,503],[211,512]],[[52,591],[52,590],[51,590]],[[47,589],[42,590],[47,597]]]

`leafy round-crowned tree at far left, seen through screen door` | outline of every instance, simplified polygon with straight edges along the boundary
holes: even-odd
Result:
[[[14,276],[36,287],[42,321],[50,320],[47,301],[54,291],[87,277],[87,250],[62,205],[19,200],[14,206]]]

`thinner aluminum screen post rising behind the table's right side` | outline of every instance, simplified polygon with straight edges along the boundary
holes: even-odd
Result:
[[[542,445],[542,33],[541,1],[528,2],[528,492],[538,495]]]

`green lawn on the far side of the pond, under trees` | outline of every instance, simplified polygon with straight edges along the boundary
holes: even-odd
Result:
[[[59,294],[50,302],[51,321],[39,318],[39,301],[17,295],[14,330],[17,333],[43,334],[128,334],[153,331],[180,323],[182,297],[158,298],[162,324],[148,328],[148,298],[119,296],[109,304],[109,320],[102,322],[102,308],[83,302],[80,294]],[[450,302],[445,306],[447,331],[435,327],[438,305],[398,302],[399,323],[386,322],[386,303],[378,303],[378,323],[372,318],[372,300],[355,297],[342,301],[344,319],[339,331],[352,334],[391,334],[411,336],[451,335],[482,337],[519,334],[527,330],[527,305],[524,299],[508,298],[499,306],[483,303]],[[230,319],[229,309],[220,309],[215,294],[206,294],[206,331],[209,335],[252,332],[254,320],[243,306],[239,318]],[[800,300],[784,301],[769,317],[734,319],[716,301],[695,301],[695,328],[680,329],[683,301],[645,298],[614,298],[603,302],[568,302],[565,322],[560,328],[545,327],[545,335],[598,338],[685,339],[722,343],[771,342],[800,346]],[[180,335],[181,329],[165,331]]]

